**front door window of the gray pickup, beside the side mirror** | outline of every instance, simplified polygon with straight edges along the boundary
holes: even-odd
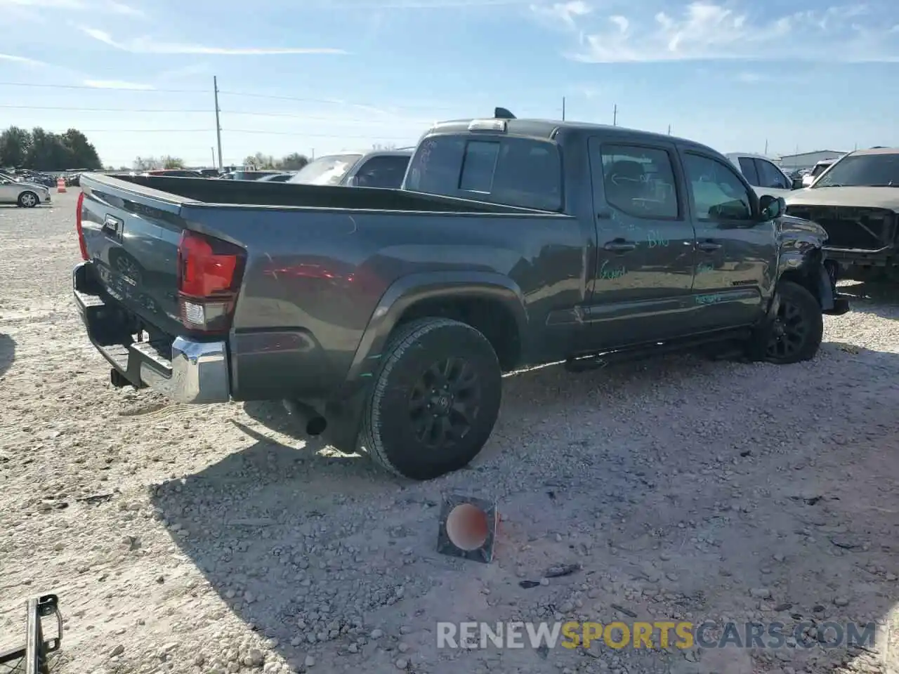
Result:
[[[751,220],[752,198],[734,169],[707,156],[684,155],[699,220]]]

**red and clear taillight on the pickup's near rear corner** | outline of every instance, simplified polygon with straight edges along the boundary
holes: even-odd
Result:
[[[178,304],[184,327],[227,333],[244,273],[243,248],[184,230],[178,244]]]

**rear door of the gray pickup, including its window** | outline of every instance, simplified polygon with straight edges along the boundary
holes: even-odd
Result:
[[[673,144],[589,141],[597,255],[588,339],[597,349],[685,333],[695,235]]]

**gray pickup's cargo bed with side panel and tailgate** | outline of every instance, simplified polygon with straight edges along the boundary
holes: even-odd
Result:
[[[399,190],[96,173],[81,180],[78,303],[97,316],[94,343],[132,383],[140,368],[165,375],[179,338],[224,339],[236,399],[324,397],[321,387],[341,381],[399,279],[511,279],[521,302],[535,298],[539,324],[556,305],[583,300],[585,234],[561,213]],[[227,335],[186,327],[178,280],[185,232],[244,251]]]

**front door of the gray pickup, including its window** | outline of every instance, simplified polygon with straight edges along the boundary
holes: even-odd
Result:
[[[681,157],[696,229],[697,324],[752,324],[777,273],[775,224],[758,220],[758,198],[729,162],[693,149]]]

